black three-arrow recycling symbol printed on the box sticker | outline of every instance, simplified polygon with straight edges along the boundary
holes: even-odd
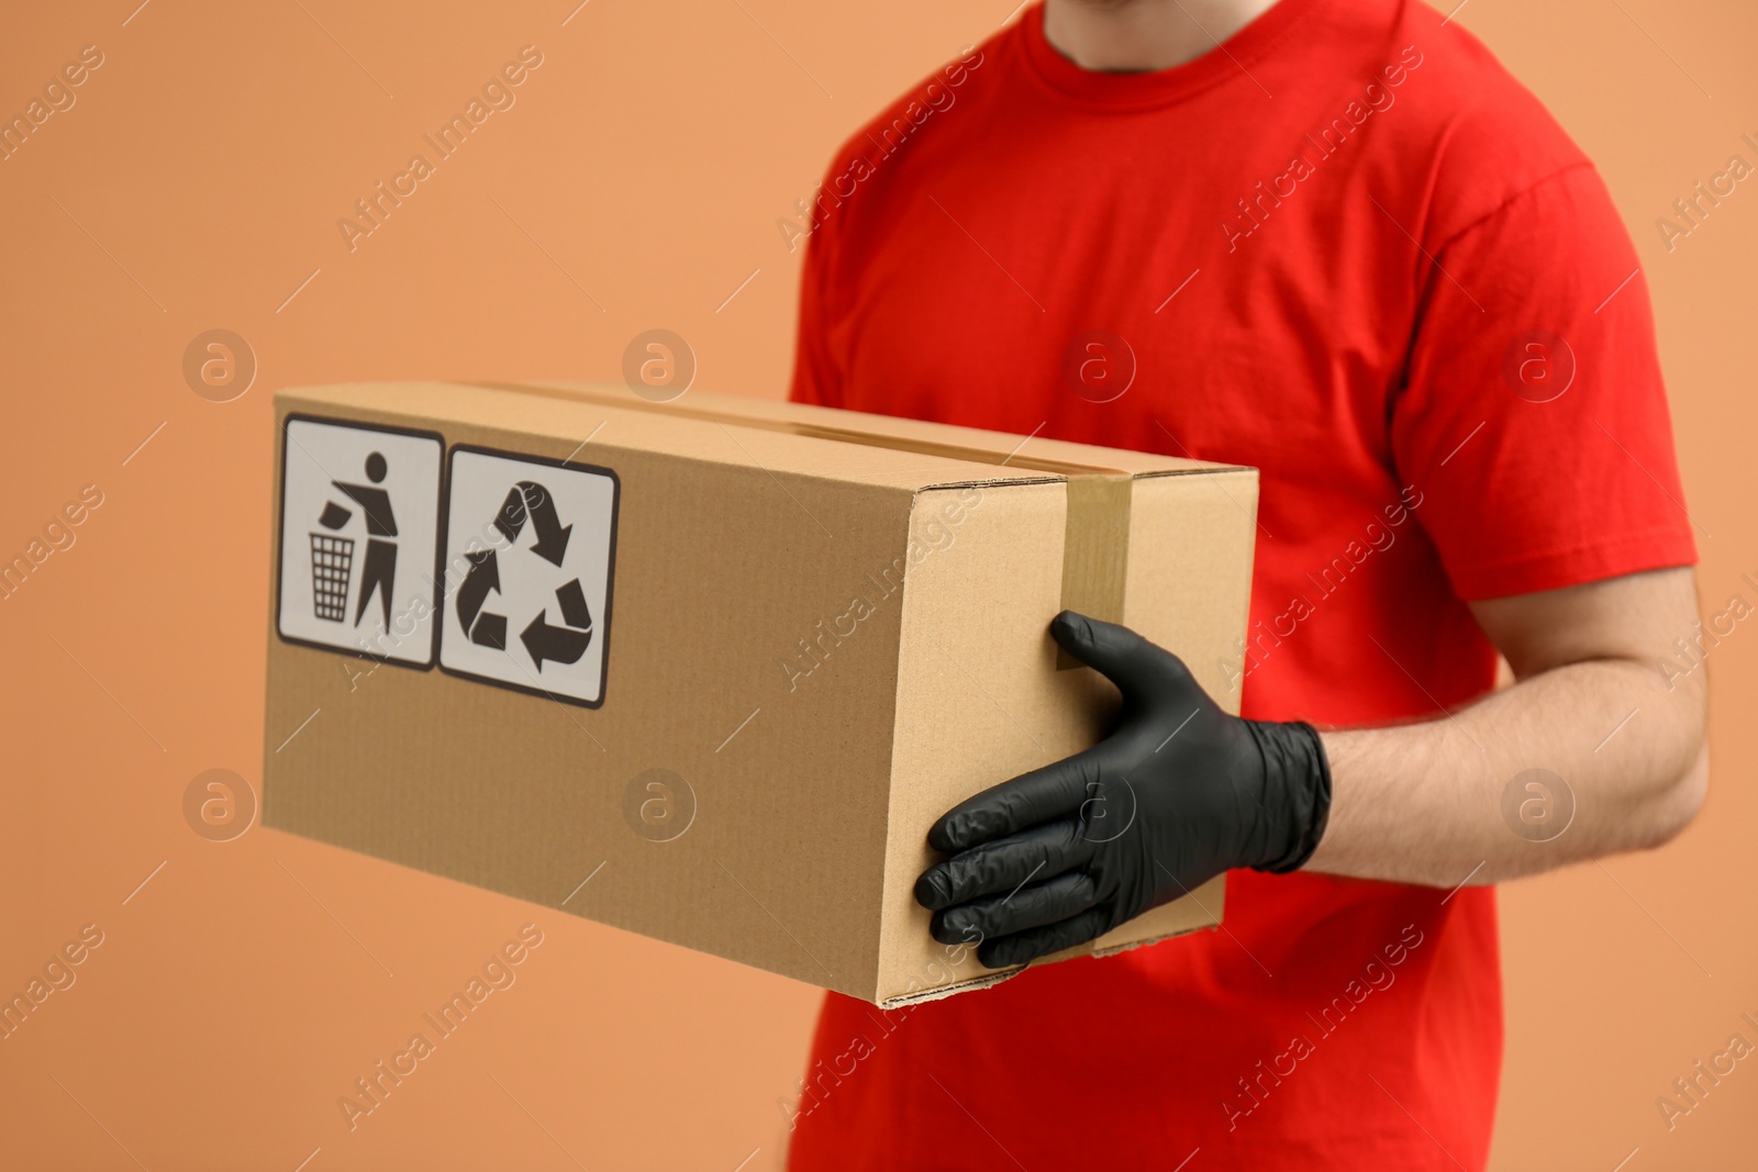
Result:
[[[561,524],[556,497],[534,480],[520,480],[513,485],[506,494],[506,501],[494,515],[492,525],[506,539],[505,550],[510,562],[519,557],[515,552],[519,548],[517,541],[527,522],[536,534],[536,541],[524,553],[540,557],[561,569],[568,555],[568,539],[573,534],[573,525]],[[469,571],[457,589],[457,619],[469,634],[471,643],[505,652],[506,615],[485,610],[489,596],[501,594],[499,553],[501,550],[498,548],[464,553],[469,561]],[[578,576],[556,587],[556,611],[561,626],[548,620],[548,606],[543,606],[519,633],[519,641],[524,643],[538,671],[543,671],[545,662],[578,662],[585,648],[592,643],[592,611],[587,608],[585,590],[580,587]]]

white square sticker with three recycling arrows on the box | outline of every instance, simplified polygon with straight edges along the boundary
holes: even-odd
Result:
[[[440,666],[603,703],[615,525],[608,469],[454,448]]]

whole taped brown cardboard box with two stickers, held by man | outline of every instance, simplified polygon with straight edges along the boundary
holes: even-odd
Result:
[[[890,1007],[1011,975],[911,887],[935,817],[1111,717],[1062,606],[1238,706],[1253,469],[621,387],[276,422],[267,826]]]

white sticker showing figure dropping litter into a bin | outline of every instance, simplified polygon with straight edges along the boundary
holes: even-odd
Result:
[[[281,638],[432,666],[440,436],[287,420]]]

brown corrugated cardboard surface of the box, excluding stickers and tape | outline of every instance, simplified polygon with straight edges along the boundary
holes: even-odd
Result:
[[[719,418],[443,383],[283,392],[281,418],[612,467],[621,506],[601,708],[292,645],[271,601],[267,727],[309,726],[265,747],[264,821],[867,1000],[958,988],[983,970],[930,968],[942,949],[907,898],[928,822],[1104,719],[1104,685],[1057,673],[1044,634],[1065,483],[738,413],[1000,453],[1018,438],[691,402]],[[1245,631],[1255,473],[1048,441],[1042,455],[1150,473],[1132,485],[1125,617],[1224,698],[1202,662]],[[668,842],[624,819],[654,768],[694,796]],[[1180,901],[1101,944],[1213,922],[1218,891],[1197,898],[1208,910]]]

